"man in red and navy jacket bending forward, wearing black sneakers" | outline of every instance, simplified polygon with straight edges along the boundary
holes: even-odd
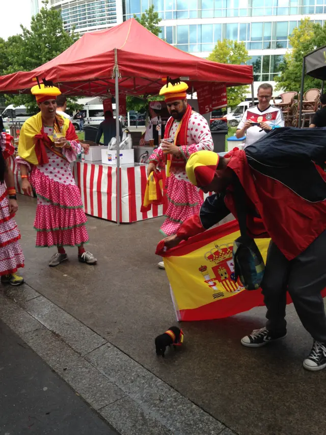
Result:
[[[270,238],[261,283],[267,322],[244,336],[241,344],[256,348],[286,337],[288,292],[313,338],[303,363],[311,371],[326,367],[326,316],[320,293],[326,287],[326,173],[315,163],[326,160],[325,136],[322,129],[283,127],[224,158],[209,151],[194,153],[186,165],[189,180],[216,194],[176,235],[165,239],[166,247],[177,246],[229,213],[243,215],[252,239]]]

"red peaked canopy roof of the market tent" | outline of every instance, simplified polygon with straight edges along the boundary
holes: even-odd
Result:
[[[0,92],[29,92],[35,76],[58,83],[69,95],[114,93],[114,67],[118,65],[119,89],[129,94],[156,94],[161,79],[184,77],[196,87],[203,82],[227,86],[251,84],[252,66],[225,65],[182,52],[153,35],[131,18],[111,29],[83,35],[55,59],[30,72],[0,77]]]

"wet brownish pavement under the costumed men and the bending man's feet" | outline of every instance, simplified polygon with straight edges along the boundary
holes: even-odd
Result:
[[[293,306],[288,338],[263,349],[239,340],[264,324],[264,309],[209,322],[183,323],[181,352],[157,359],[153,340],[175,323],[168,281],[153,252],[161,219],[121,225],[90,218],[89,250],[96,267],[70,261],[49,268],[52,250],[36,249],[35,200],[19,195],[17,216],[28,284],[90,326],[132,359],[168,382],[239,435],[320,435],[326,417],[326,371],[310,373],[302,361],[311,347]]]

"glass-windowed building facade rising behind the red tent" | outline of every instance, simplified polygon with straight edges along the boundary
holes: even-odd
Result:
[[[31,0],[35,3],[37,0]],[[256,87],[274,82],[291,48],[288,35],[300,20],[323,24],[326,0],[50,0],[64,27],[85,32],[112,27],[150,5],[161,18],[160,37],[185,52],[208,57],[217,41],[243,41],[251,56]],[[146,43],[146,41],[144,41]]]

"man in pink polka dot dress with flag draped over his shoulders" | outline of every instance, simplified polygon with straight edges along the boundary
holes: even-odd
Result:
[[[70,168],[81,149],[78,137],[69,119],[56,114],[58,88],[39,85],[31,92],[40,112],[22,126],[16,161],[24,193],[31,194],[33,186],[37,195],[36,246],[57,247],[51,267],[68,260],[65,246],[77,246],[78,260],[94,265],[96,258],[84,248],[87,218]]]

